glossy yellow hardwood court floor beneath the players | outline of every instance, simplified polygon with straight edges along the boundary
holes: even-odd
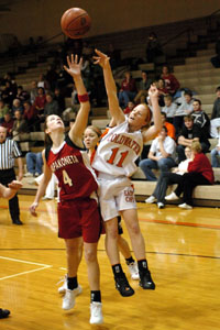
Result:
[[[38,217],[29,213],[33,196],[20,195],[21,220],[11,224],[8,202],[0,200],[0,307],[11,310],[2,330],[211,330],[220,324],[220,210],[190,211],[139,204],[146,256],[156,290],[130,280],[135,295],[114,289],[103,238],[99,243],[105,323],[89,324],[89,287],[82,261],[84,292],[73,310],[61,308],[57,282],[65,274],[64,243],[57,238],[56,202],[42,201]],[[124,237],[128,234],[124,230]],[[125,270],[123,257],[122,264]]]

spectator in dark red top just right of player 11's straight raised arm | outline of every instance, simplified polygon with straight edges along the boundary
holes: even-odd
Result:
[[[121,89],[119,91],[119,103],[120,107],[127,107],[129,101],[133,101],[136,95],[136,82],[131,77],[130,72],[124,73],[125,78],[121,82]]]

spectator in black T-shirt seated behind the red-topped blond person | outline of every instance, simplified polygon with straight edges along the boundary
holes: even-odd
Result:
[[[207,153],[210,147],[209,140],[202,134],[202,131],[194,123],[190,114],[184,117],[184,127],[178,135],[176,152],[178,154],[178,162],[185,160],[184,150],[186,146],[191,146],[193,142],[200,142],[201,150]]]

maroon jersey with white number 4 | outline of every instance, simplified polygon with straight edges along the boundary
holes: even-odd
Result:
[[[48,167],[58,179],[61,201],[86,198],[97,190],[96,174],[87,153],[77,147],[69,136],[57,151],[46,150],[45,156]]]

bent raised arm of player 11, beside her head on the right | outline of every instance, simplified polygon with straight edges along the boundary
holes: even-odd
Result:
[[[158,90],[155,86],[151,86],[151,88],[148,89],[148,96],[151,98],[153,107],[154,124],[148,130],[143,132],[144,142],[154,139],[162,130],[162,116],[161,108],[158,105]]]

